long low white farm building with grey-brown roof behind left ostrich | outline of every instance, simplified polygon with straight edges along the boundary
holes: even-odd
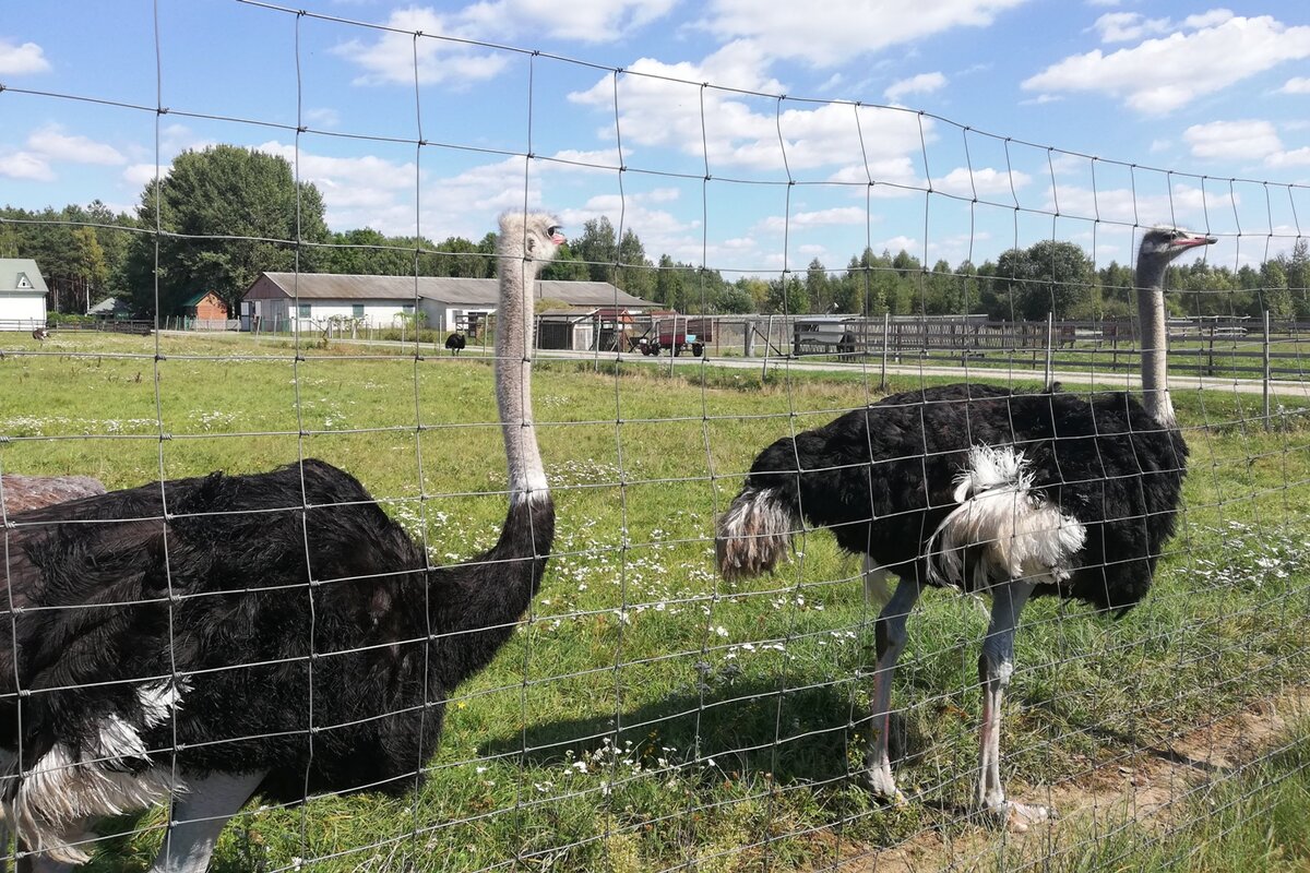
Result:
[[[321,330],[337,318],[393,327],[418,312],[424,327],[449,331],[495,312],[499,294],[495,279],[263,272],[241,298],[241,326],[257,318],[263,330]],[[570,306],[655,306],[608,281],[538,281],[537,296]]]

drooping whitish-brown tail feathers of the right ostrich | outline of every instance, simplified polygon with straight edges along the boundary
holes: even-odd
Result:
[[[800,516],[777,488],[747,486],[719,518],[714,541],[723,579],[748,579],[773,571],[787,560]]]

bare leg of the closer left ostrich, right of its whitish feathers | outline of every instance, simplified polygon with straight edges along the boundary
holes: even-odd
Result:
[[[169,828],[151,873],[204,873],[219,834],[267,774],[214,774],[173,798]]]

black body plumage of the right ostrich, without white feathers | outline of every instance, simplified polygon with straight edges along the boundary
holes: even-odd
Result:
[[[924,543],[958,505],[955,479],[975,445],[1022,452],[1032,493],[1086,526],[1077,569],[1038,593],[1115,610],[1141,599],[1174,533],[1187,445],[1129,394],[1087,401],[985,385],[893,394],[778,440],[745,488],[778,495],[793,530],[800,518],[829,527],[844,550],[930,582]]]

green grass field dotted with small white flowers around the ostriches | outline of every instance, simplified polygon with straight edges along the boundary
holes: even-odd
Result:
[[[124,487],[320,457],[436,563],[494,542],[504,465],[486,361],[172,336],[156,361],[155,342],[0,335],[0,470]],[[427,787],[252,809],[215,869],[831,869],[925,831],[982,839],[994,866],[1002,838],[965,814],[977,601],[929,593],[910,620],[895,704],[912,802],[884,809],[852,779],[872,685],[858,561],[820,531],[773,577],[713,572],[714,518],[755,454],[876,397],[861,374],[538,365],[555,555],[520,632],[452,698]],[[1175,403],[1186,513],[1146,602],[1119,620],[1045,599],[1024,613],[1003,738],[1015,797],[1040,802],[1310,677],[1310,410],[1265,432],[1258,397]],[[161,821],[117,822],[89,869],[144,869]],[[1056,869],[1099,864],[1074,861]]]

